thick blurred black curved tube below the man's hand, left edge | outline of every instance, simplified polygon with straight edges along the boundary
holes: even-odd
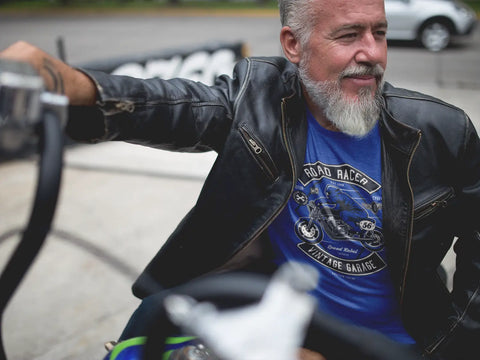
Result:
[[[45,111],[38,130],[40,164],[33,208],[22,239],[0,276],[0,360],[6,359],[1,341],[3,312],[45,241],[60,190],[63,133],[56,115]]]

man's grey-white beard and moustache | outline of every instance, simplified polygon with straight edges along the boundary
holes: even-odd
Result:
[[[319,109],[322,109],[327,120],[339,131],[351,136],[363,137],[373,129],[380,116],[382,104],[383,69],[379,65],[347,68],[340,74],[337,81],[314,81],[310,78],[303,62],[300,63],[298,71],[310,99]],[[382,81],[373,96],[370,88],[361,89],[355,101],[343,96],[340,81],[343,77],[354,74],[382,76]]]

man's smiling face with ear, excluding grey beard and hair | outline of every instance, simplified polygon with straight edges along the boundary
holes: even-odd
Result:
[[[387,65],[387,21],[383,0],[315,0],[317,21],[302,47],[302,65],[315,82],[338,82],[344,97],[356,101],[359,93],[377,91],[381,76],[353,74],[350,68]]]

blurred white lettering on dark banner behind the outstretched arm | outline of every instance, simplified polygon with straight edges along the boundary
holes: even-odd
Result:
[[[217,76],[222,74],[231,76],[234,66],[235,53],[230,49],[220,49],[213,53],[197,51],[184,59],[181,56],[174,56],[169,60],[149,60],[145,66],[138,63],[127,63],[113,70],[112,74],[142,79],[181,77],[213,85]]]

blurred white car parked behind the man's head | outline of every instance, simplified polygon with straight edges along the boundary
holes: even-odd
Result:
[[[472,33],[476,13],[456,0],[385,0],[389,40],[418,40],[425,48],[446,48],[453,36]]]

